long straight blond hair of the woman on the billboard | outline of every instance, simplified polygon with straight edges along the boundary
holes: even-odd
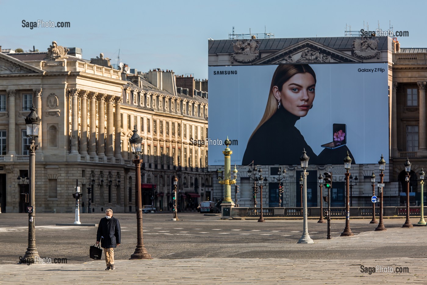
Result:
[[[279,91],[282,91],[283,84],[290,80],[292,76],[298,73],[310,73],[313,75],[314,83],[316,83],[316,74],[314,73],[313,68],[311,68],[308,64],[282,64],[279,65],[274,71],[273,78],[271,80],[270,92],[267,99],[267,106],[264,112],[264,116],[262,117],[260,123],[255,128],[249,140],[252,139],[256,131],[270,119],[277,111],[277,99],[273,94],[273,87],[277,86]]]

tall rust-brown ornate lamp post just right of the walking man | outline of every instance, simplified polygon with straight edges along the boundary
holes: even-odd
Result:
[[[129,259],[147,259],[151,258],[151,255],[147,252],[144,246],[144,240],[142,235],[142,199],[141,199],[141,163],[142,159],[139,159],[139,155],[142,153],[141,145],[142,138],[137,134],[136,125],[133,129],[133,135],[129,138],[131,144],[132,153],[135,154],[135,159],[132,160],[135,163],[135,190],[136,190],[136,219],[137,219],[137,246],[135,252]]]

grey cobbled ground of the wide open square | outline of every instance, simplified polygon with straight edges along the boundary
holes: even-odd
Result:
[[[352,220],[353,237],[339,237],[344,221],[333,220],[332,240],[325,239],[325,224],[309,221],[315,243],[297,244],[299,220],[257,223],[187,213],[170,221],[167,214],[147,214],[144,242],[153,259],[128,260],[135,249],[135,217],[117,214],[123,246],[116,251],[117,269],[105,271],[105,261],[87,256],[95,227],[55,226],[71,216],[39,214],[36,234],[41,258],[66,257],[67,264],[27,266],[16,264],[26,249],[27,216],[2,214],[0,284],[427,284],[427,227],[402,229],[404,219],[386,220],[384,232]],[[87,214],[81,220],[99,219]],[[377,266],[383,272],[373,273]]]

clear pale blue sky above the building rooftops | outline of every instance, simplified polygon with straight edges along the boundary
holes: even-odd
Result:
[[[129,3],[129,4],[128,4]],[[40,51],[53,40],[80,47],[83,58],[104,53],[138,71],[172,69],[208,77],[208,38],[235,33],[274,33],[275,38],[344,36],[351,30],[409,31],[401,47],[427,47],[426,1],[10,1],[0,0],[0,45]],[[22,27],[22,20],[67,21],[70,28]]]

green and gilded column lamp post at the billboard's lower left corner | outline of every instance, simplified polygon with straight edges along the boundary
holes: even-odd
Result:
[[[219,183],[224,185],[224,199],[222,200],[222,217],[231,216],[231,208],[234,206],[233,200],[231,200],[231,185],[236,183],[237,178],[237,169],[234,166],[233,174],[234,179],[231,180],[231,154],[233,151],[228,147],[231,144],[231,141],[225,140],[224,142],[226,148],[222,151],[224,154],[224,179],[220,180]]]

